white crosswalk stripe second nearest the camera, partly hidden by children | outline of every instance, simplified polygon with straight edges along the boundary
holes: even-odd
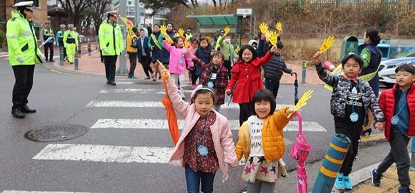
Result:
[[[239,129],[239,120],[228,120],[231,130]],[[178,128],[183,128],[185,121],[178,120]],[[303,131],[326,132],[317,122],[303,121]],[[165,119],[98,119],[91,129],[168,129]],[[284,131],[298,131],[298,121],[290,121]]]

